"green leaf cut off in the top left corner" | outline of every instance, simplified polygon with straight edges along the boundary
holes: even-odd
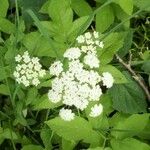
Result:
[[[0,0],[0,17],[6,17],[8,7],[8,0]]]

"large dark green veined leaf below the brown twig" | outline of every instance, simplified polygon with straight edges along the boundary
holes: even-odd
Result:
[[[143,90],[127,72],[123,74],[128,79],[128,83],[113,85],[109,90],[113,108],[130,114],[146,112],[147,104]]]

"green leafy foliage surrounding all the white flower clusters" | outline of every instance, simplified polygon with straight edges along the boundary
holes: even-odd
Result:
[[[51,76],[37,88],[17,85],[14,57],[28,50],[48,70],[94,29],[105,44],[99,72],[111,72],[115,85],[100,117],[87,110],[66,123],[47,98]],[[149,48],[149,0],[0,0],[0,149],[149,150]]]

